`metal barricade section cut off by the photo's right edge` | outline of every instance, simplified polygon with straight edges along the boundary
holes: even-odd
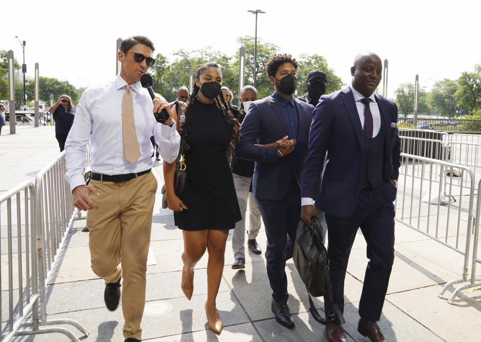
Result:
[[[478,185],[477,185],[478,189],[479,187],[481,187],[481,180],[479,181]],[[473,236],[473,247],[472,247],[472,257],[471,257],[471,278],[470,279],[459,279],[459,280],[453,280],[453,281],[449,281],[447,282],[442,290],[441,290],[441,293],[438,294],[438,296],[440,298],[442,298],[442,295],[444,294],[444,292],[453,284],[458,284],[458,283],[461,283],[461,282],[466,282],[466,281],[469,281],[468,284],[464,284],[462,286],[459,286],[458,288],[456,288],[454,290],[454,292],[451,294],[451,297],[449,297],[448,299],[448,303],[449,304],[452,304],[452,301],[454,300],[454,298],[456,298],[457,294],[466,289],[466,288],[472,288],[472,287],[477,287],[477,286],[481,286],[481,276],[477,276],[476,277],[476,263],[481,263],[481,256],[478,256],[477,255],[477,250],[478,250],[478,245],[479,245],[479,224],[481,224],[481,196],[477,196],[477,201],[476,201],[476,218],[474,220],[474,236]]]

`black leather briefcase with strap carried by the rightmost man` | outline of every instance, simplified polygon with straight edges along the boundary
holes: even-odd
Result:
[[[293,259],[302,281],[306,285],[309,296],[309,311],[314,319],[322,324],[331,323],[337,313],[341,324],[344,316],[339,307],[334,303],[332,295],[331,277],[329,275],[329,255],[321,238],[321,223],[316,217],[311,219],[312,228],[300,221],[296,230]],[[327,318],[321,317],[313,297],[328,296],[330,310]]]

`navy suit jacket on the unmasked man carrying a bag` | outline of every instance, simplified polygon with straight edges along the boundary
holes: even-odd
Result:
[[[397,180],[401,165],[397,107],[382,96],[375,97],[386,129],[384,181]],[[316,207],[326,213],[351,216],[359,198],[364,163],[363,131],[351,88],[321,97],[313,115],[301,196],[316,199]]]

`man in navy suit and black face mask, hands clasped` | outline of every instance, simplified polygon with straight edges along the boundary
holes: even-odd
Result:
[[[252,185],[266,227],[271,307],[276,320],[288,328],[294,327],[294,321],[287,305],[285,267],[301,215],[300,179],[314,110],[292,96],[297,66],[291,55],[269,60],[266,70],[275,92],[251,103],[235,144],[237,157],[256,162]]]

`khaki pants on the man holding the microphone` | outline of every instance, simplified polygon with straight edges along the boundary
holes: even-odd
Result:
[[[87,215],[92,270],[105,282],[123,275],[124,336],[140,339],[157,180],[149,172],[122,183],[92,180],[90,185],[100,193],[90,193],[99,209]]]

